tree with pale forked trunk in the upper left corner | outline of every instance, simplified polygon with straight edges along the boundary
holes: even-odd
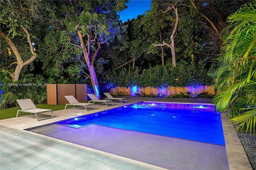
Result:
[[[1,39],[5,41],[4,46],[8,49],[1,53],[1,56],[9,58],[15,56],[15,59],[8,59],[6,64],[2,66],[2,71],[8,72],[12,78],[12,82],[18,81],[22,69],[26,65],[32,63],[37,55],[35,43],[40,39],[40,26],[44,22],[48,22],[49,13],[54,11],[54,6],[44,1],[12,1],[0,0],[1,14],[0,23]],[[11,61],[11,63],[10,63]],[[12,68],[15,70],[12,71]]]

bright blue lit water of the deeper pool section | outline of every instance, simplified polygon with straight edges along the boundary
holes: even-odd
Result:
[[[56,124],[73,128],[94,124],[225,145],[220,113],[214,105],[140,102]]]

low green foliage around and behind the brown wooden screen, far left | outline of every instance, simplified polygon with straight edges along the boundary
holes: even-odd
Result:
[[[31,99],[35,104],[46,103],[47,84],[88,83],[88,79],[82,76],[70,77],[50,77],[44,79],[42,75],[26,74],[21,75],[20,80],[12,82],[8,73],[0,71],[0,102],[1,109],[16,107],[17,99]]]

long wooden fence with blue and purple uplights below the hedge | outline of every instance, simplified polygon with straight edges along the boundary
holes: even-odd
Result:
[[[115,96],[138,96],[138,95],[155,95],[155,96],[173,96],[190,93],[190,96],[198,95],[200,93],[208,93],[208,95],[216,95],[214,91],[214,85],[206,86],[200,85],[197,87],[188,86],[188,87],[115,87],[110,89],[110,94]]]

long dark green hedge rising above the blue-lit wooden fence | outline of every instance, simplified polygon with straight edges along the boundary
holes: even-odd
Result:
[[[212,78],[201,67],[192,66],[186,62],[180,62],[177,67],[167,63],[166,66],[156,65],[149,69],[131,71],[124,69],[110,74],[110,82],[120,87],[184,87],[198,85],[212,85]]]

